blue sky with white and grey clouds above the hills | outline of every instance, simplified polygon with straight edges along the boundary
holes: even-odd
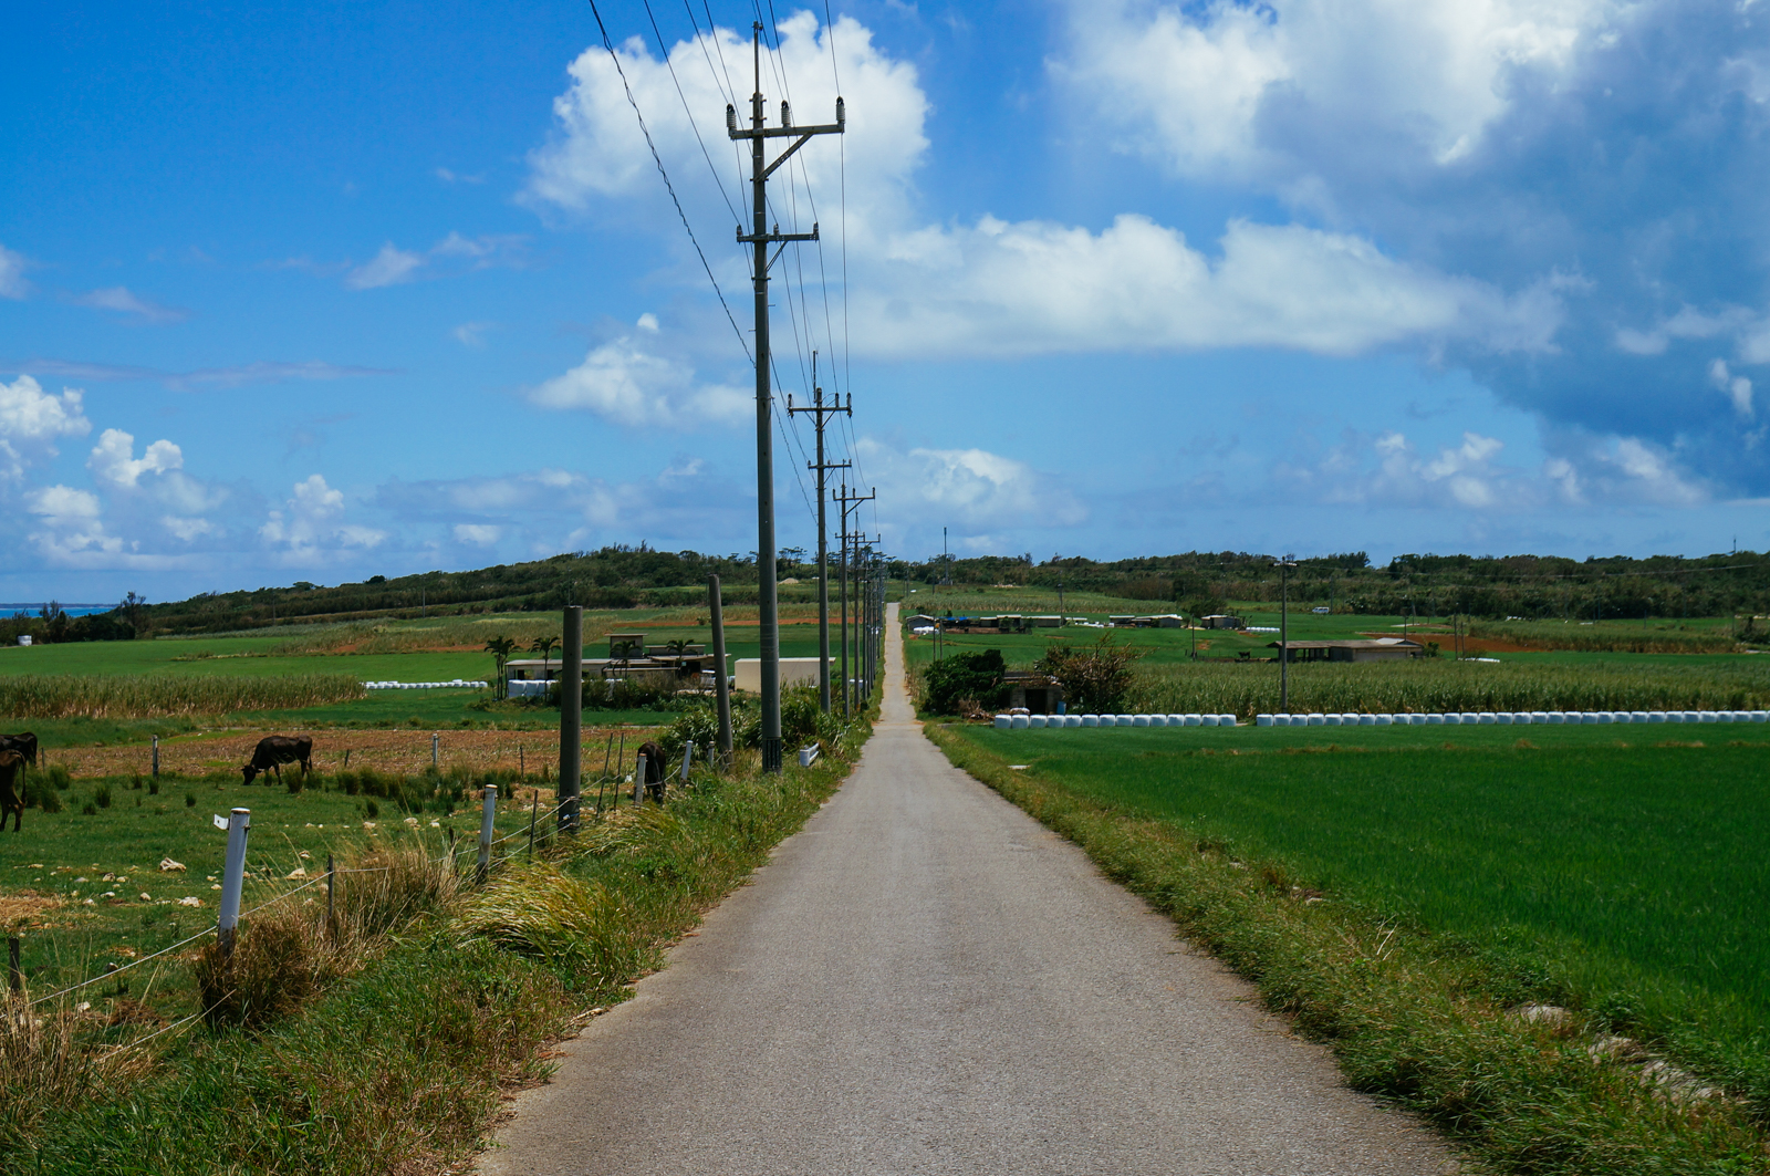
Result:
[[[92,4],[0,78],[0,599],[752,549],[758,11],[892,553],[1770,545],[1766,0],[609,0],[736,333],[588,5]]]

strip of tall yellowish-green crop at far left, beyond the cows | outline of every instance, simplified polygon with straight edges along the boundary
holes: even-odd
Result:
[[[9,719],[156,719],[322,707],[363,698],[349,673],[266,678],[218,675],[18,675],[0,678],[0,716]]]

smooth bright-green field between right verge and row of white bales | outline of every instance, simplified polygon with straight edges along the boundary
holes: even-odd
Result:
[[[1770,1107],[1761,724],[950,730],[1331,901],[1473,944],[1538,999]]]

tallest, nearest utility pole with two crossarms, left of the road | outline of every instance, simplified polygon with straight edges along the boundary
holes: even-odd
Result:
[[[835,99],[835,122],[825,126],[793,126],[793,112],[781,103],[781,126],[765,126],[763,113],[763,23],[750,25],[750,55],[756,67],[756,90],[750,92],[750,126],[738,126],[738,108],[726,104],[726,133],[733,140],[750,142],[750,218],[752,232],[738,227],[738,243],[752,246],[750,280],[756,285],[756,602],[761,627],[761,687],[763,687],[763,770],[781,770],[781,604],[775,595],[775,535],[773,535],[773,420],[768,411],[768,269],[791,241],[816,241],[811,232],[781,232],[768,228],[768,177],[788,161],[795,151],[814,135],[841,135],[848,129],[848,113],[841,97]],[[770,138],[791,138],[793,143],[768,163]],[[768,246],[779,244],[773,257]]]

